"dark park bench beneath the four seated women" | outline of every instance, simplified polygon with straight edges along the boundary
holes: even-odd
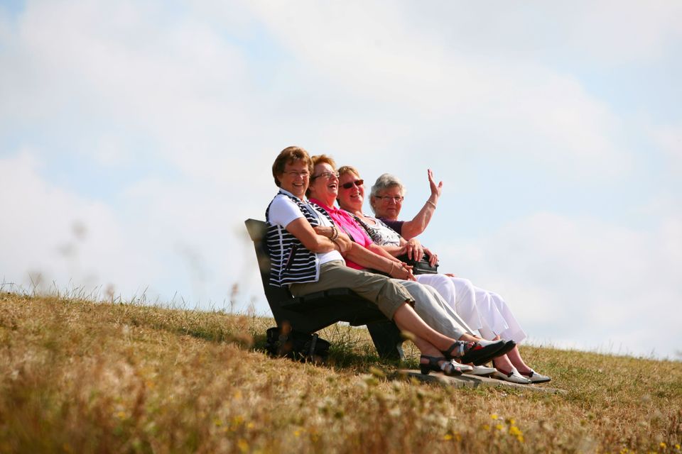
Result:
[[[312,334],[334,323],[367,325],[369,336],[381,358],[403,359],[403,338],[399,328],[386,319],[376,304],[347,288],[329,289],[303,297],[293,297],[286,287],[270,285],[270,256],[265,241],[266,224],[256,219],[244,221],[254,242],[265,297],[277,326],[291,325],[296,331]]]

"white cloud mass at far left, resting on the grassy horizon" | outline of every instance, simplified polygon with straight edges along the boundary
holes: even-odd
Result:
[[[40,167],[28,150],[0,160],[4,279],[26,287],[29,273],[40,273],[58,287],[114,284],[131,296],[158,277],[158,262],[136,238],[126,238],[110,207],[48,184]]]

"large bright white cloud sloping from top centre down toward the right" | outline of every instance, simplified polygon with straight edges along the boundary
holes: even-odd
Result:
[[[491,159],[528,156],[548,169],[570,167],[600,179],[629,170],[629,150],[615,145],[619,118],[578,79],[525,60],[492,60],[412,33],[405,11],[384,4],[291,6],[258,10],[291,52],[371,111],[332,123],[334,138],[361,143],[364,127],[381,131],[379,152],[408,157],[404,136],[442,138],[445,153],[477,150]],[[379,20],[381,18],[381,20]],[[379,107],[383,106],[383,107]],[[386,128],[377,116],[390,118]],[[361,145],[362,146],[362,145]],[[373,149],[374,151],[376,149]],[[615,160],[619,166],[611,165]]]

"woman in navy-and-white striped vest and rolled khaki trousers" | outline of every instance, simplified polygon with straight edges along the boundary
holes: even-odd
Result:
[[[288,285],[296,297],[337,287],[352,289],[377,304],[398,328],[412,334],[422,353],[419,360],[422,373],[435,370],[459,375],[460,367],[451,360],[481,364],[507,350],[508,343],[504,341],[455,341],[438,333],[412,309],[414,299],[399,282],[345,266],[343,255],[352,257],[358,246],[335,228],[327,214],[305,200],[312,171],[310,156],[298,147],[282,150],[272,165],[272,175],[279,187],[266,209],[272,285]],[[328,229],[330,235],[316,233],[314,227],[318,226],[332,227]],[[401,265],[393,265],[390,271],[396,277],[411,276]]]

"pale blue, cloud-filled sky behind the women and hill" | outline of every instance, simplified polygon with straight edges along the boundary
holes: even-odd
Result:
[[[682,359],[682,3],[0,1],[0,284],[270,315],[288,145],[390,172],[532,345]],[[366,206],[369,212],[369,206]]]

